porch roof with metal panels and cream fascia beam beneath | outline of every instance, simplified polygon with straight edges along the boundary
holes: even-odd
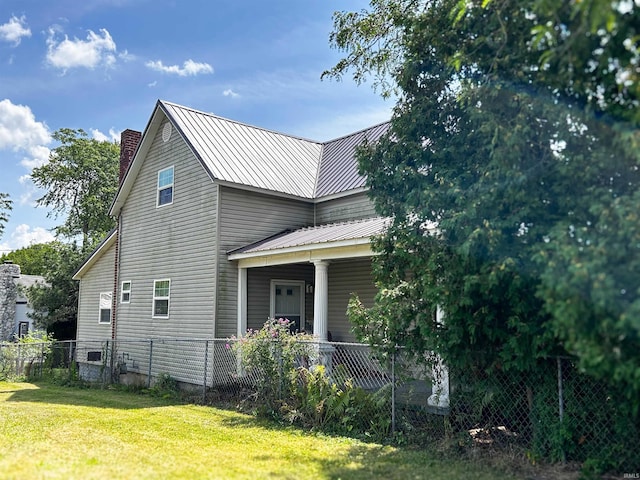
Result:
[[[371,237],[381,234],[389,221],[376,217],[286,230],[232,250],[228,256],[246,268],[371,256]]]

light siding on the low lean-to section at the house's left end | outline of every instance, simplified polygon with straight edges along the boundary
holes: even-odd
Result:
[[[80,280],[78,340],[111,338],[111,324],[98,323],[100,294],[113,291],[115,245],[109,247]]]

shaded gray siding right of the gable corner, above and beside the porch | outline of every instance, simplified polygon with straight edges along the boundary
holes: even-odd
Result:
[[[227,260],[227,252],[289,228],[311,225],[313,208],[307,202],[270,197],[258,193],[221,187],[220,200],[220,268],[218,287],[218,321],[216,336],[227,338],[237,330],[238,273],[235,262]],[[249,302],[253,303],[249,289]],[[250,305],[250,309],[254,306]],[[253,311],[253,310],[252,310]],[[260,318],[261,313],[256,313]],[[266,316],[269,303],[266,304]],[[255,321],[255,320],[252,320]]]

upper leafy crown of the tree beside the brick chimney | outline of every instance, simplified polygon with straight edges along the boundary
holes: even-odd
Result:
[[[34,184],[47,190],[38,205],[50,207],[56,218],[66,215],[56,233],[81,235],[86,248],[115,226],[109,207],[118,189],[119,147],[90,139],[81,129],[62,128],[52,137],[60,145],[31,174]]]

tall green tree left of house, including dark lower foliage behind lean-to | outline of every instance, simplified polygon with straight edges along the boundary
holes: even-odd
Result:
[[[62,128],[52,136],[59,146],[31,177],[46,190],[38,204],[64,222],[55,228],[59,241],[44,257],[47,284],[34,286],[28,295],[36,322],[56,338],[70,338],[78,308],[78,283],[72,276],[115,226],[109,207],[118,188],[119,146],[91,139],[83,130]]]

